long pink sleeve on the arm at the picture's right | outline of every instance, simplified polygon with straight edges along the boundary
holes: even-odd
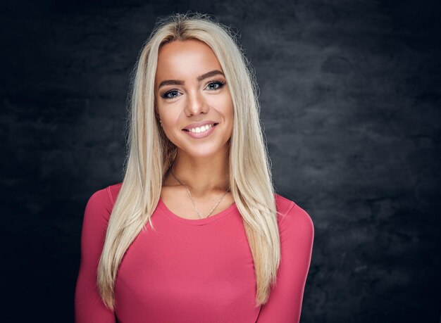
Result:
[[[281,261],[275,286],[261,307],[256,322],[287,323],[300,320],[306,277],[311,263],[314,227],[305,210],[292,202],[280,220]]]

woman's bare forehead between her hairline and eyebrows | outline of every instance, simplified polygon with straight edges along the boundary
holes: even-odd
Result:
[[[164,44],[159,49],[156,82],[196,79],[210,70],[222,70],[213,50],[197,39]]]

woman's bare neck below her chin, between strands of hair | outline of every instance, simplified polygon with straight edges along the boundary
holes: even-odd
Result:
[[[225,192],[229,188],[228,153],[224,151],[215,156],[194,158],[178,148],[172,170],[175,177],[187,185],[194,196]],[[166,186],[180,185],[175,177],[170,171]]]

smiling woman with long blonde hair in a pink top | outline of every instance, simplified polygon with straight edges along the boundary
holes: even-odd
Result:
[[[75,322],[299,322],[313,223],[275,194],[256,90],[227,27],[156,26],[123,182],[85,208]]]

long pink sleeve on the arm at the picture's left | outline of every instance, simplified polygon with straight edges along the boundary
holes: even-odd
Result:
[[[111,201],[106,189],[87,201],[82,220],[81,260],[75,286],[75,323],[115,323],[116,318],[101,300],[97,288],[97,267],[106,236]]]

